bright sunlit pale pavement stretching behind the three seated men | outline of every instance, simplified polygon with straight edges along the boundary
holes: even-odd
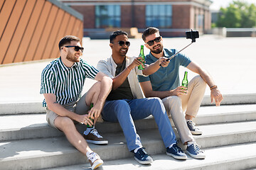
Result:
[[[129,56],[138,56],[141,39],[129,39]],[[181,50],[191,40],[186,38],[164,38],[164,47]],[[83,38],[85,52],[82,59],[96,66],[101,59],[110,57],[109,40],[90,40]],[[216,35],[202,35],[183,53],[206,69],[218,85],[222,94],[256,94],[255,65],[256,38],[220,38]],[[57,48],[58,45],[55,45]],[[149,50],[144,48],[145,55]],[[0,103],[41,102],[39,94],[41,72],[51,61],[26,62],[0,66]],[[184,73],[181,67],[181,78]],[[195,74],[188,72],[188,81]],[[92,86],[93,80],[85,81],[84,91]],[[206,95],[210,91],[206,89]],[[255,96],[256,97],[256,96]]]

